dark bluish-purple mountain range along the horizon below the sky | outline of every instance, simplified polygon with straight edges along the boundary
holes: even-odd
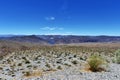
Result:
[[[41,44],[71,44],[85,42],[120,42],[120,36],[1,35],[0,40]]]

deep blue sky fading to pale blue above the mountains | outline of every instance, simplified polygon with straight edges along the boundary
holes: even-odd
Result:
[[[0,34],[120,35],[120,0],[0,0]]]

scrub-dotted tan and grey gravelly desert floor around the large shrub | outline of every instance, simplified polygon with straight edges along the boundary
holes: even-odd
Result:
[[[0,80],[120,80],[114,54],[119,48],[119,43],[83,43],[13,51],[1,57]],[[94,54],[106,60],[106,70],[89,69]]]

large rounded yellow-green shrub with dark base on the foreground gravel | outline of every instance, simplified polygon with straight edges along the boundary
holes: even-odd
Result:
[[[106,71],[107,62],[99,55],[92,55],[87,59],[89,69],[93,72]]]

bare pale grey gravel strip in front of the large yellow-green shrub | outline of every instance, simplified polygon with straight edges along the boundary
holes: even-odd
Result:
[[[80,72],[79,68],[56,71],[42,77],[19,80],[120,80],[120,65],[110,64],[108,72]]]

